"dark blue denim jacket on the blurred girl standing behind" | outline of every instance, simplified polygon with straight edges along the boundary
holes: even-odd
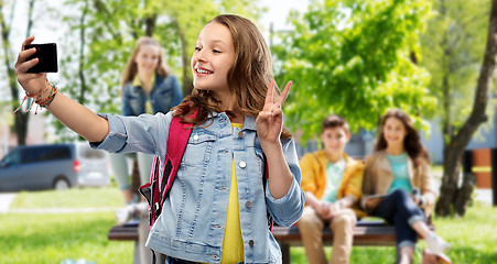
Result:
[[[145,113],[145,102],[149,98],[140,86],[129,81],[122,92],[122,116],[140,116]],[[172,107],[180,105],[183,94],[176,77],[163,77],[155,74],[155,84],[150,91],[150,102],[153,113],[166,113]]]

